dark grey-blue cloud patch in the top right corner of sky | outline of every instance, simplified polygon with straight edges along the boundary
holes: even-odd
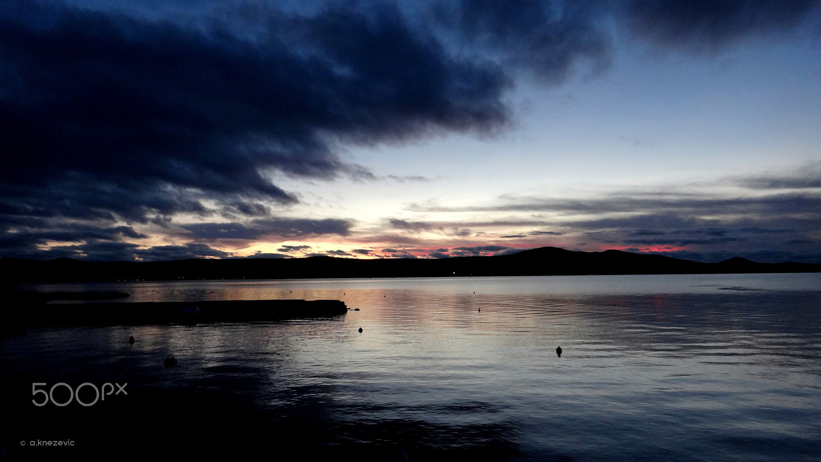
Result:
[[[819,5],[819,0],[634,0],[627,13],[631,29],[644,39],[714,53],[750,35],[792,30]]]

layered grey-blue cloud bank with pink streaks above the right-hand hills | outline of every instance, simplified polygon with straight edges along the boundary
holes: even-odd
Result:
[[[814,166],[781,175],[722,178],[699,185],[626,190],[588,199],[517,197],[471,206],[410,206],[426,215],[539,215],[544,227],[527,231],[515,220],[496,234],[517,246],[594,243],[585,250],[630,249],[718,261],[821,261],[821,187]],[[733,185],[727,191],[727,185]],[[469,222],[465,222],[469,223]],[[458,225],[458,222],[452,222]],[[485,230],[488,230],[485,228]],[[491,235],[492,237],[492,235]],[[439,256],[439,255],[437,255]]]

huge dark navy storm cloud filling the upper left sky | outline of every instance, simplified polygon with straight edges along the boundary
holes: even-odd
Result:
[[[144,221],[264,215],[295,196],[265,169],[367,176],[336,142],[485,131],[507,121],[509,81],[452,58],[395,7],[265,9],[259,34],[9,0],[0,13],[3,206]],[[247,20],[250,21],[250,20]],[[247,22],[245,21],[245,22]],[[247,24],[246,24],[247,25]],[[336,140],[336,141],[335,141]]]

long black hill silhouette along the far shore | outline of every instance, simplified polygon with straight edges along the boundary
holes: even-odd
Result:
[[[510,275],[663,275],[706,273],[821,272],[810,263],[757,263],[735,257],[701,263],[669,256],[608,250],[573,252],[540,247],[510,255],[440,259],[358,260],[333,256],[231,258],[176,261],[33,261],[0,259],[0,269],[16,282],[111,280],[265,280],[365,277],[447,277]],[[8,283],[7,283],[8,284]]]

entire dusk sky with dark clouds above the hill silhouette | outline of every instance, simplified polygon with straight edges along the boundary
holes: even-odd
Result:
[[[4,0],[0,256],[821,262],[821,0]]]

